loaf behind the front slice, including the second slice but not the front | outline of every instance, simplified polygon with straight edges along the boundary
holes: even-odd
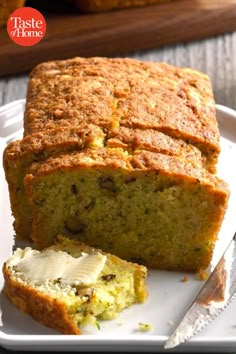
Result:
[[[146,93],[141,92],[139,84],[144,79]],[[199,91],[194,88],[191,90],[194,80],[201,88]],[[96,85],[97,88],[94,87]],[[176,92],[175,86],[178,88]],[[183,92],[189,92],[188,98],[185,98],[186,105],[191,107],[192,104],[195,114],[191,109],[185,112],[183,99],[178,98],[184,96]],[[196,101],[202,101],[202,106],[195,107],[193,93]],[[144,98],[143,106],[137,100],[140,96]],[[182,124],[179,132],[175,131],[172,112],[168,112],[170,108],[166,103],[168,96],[167,103],[172,104],[174,111],[182,107],[183,113],[177,114],[186,114],[185,119],[181,119],[184,124],[189,124],[188,129]],[[160,102],[158,107],[155,107],[155,98]],[[119,107],[122,105],[124,107],[120,112]],[[197,129],[191,128],[190,124],[191,120],[196,121],[195,125],[199,124],[206,109],[211,109],[212,112],[208,112],[210,122],[207,125],[208,130],[203,132],[208,134],[208,138],[204,137],[203,142],[201,137],[196,139],[194,134]],[[162,122],[159,115],[166,122]],[[120,119],[122,116],[127,116],[126,122]],[[139,119],[137,124],[131,121],[135,117]],[[84,123],[86,121],[90,124]],[[158,121],[163,127],[157,126]],[[172,125],[171,131],[167,130],[170,136],[165,134],[169,123]],[[203,121],[202,124],[206,123]],[[78,125],[80,128],[75,128]],[[158,129],[163,130],[163,133]],[[190,129],[193,129],[191,143],[188,138]],[[27,134],[30,135],[22,141],[9,144],[4,152],[4,168],[15,218],[14,227],[19,239],[31,237],[31,209],[25,196],[23,178],[33,161],[42,161],[51,155],[92,145],[106,145],[131,151],[146,149],[184,156],[189,163],[200,163],[214,171],[220,149],[212,92],[206,76],[193,70],[189,72],[187,69],[165,64],[142,63],[130,59],[76,58],[44,63],[37,67],[29,82],[25,112],[25,135]]]

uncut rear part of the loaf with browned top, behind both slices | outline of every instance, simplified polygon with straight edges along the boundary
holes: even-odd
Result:
[[[25,135],[81,123],[154,129],[195,145],[216,171],[220,152],[209,78],[193,69],[129,58],[73,58],[31,73]]]

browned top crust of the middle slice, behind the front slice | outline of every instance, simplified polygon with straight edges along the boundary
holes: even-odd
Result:
[[[180,156],[199,167],[205,160],[199,149],[181,139],[175,139],[154,129],[127,127],[102,128],[94,124],[81,124],[74,128],[55,128],[25,136],[11,142],[4,150],[5,171],[12,163],[33,159],[42,160],[50,155],[80,151],[91,147],[120,147],[127,151],[147,150],[164,155]]]

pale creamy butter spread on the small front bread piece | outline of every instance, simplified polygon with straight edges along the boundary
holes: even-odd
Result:
[[[63,251],[35,250],[19,251],[9,259],[8,266],[32,282],[60,280],[68,285],[90,285],[96,283],[107,257],[101,253],[82,253],[74,258]]]

